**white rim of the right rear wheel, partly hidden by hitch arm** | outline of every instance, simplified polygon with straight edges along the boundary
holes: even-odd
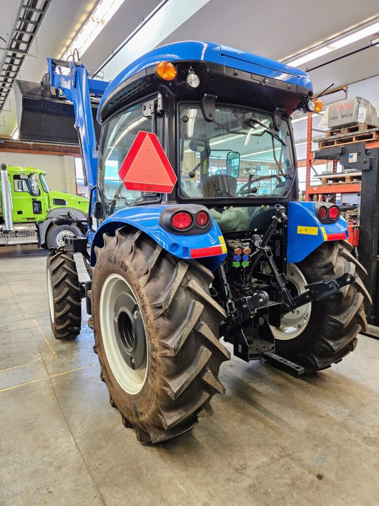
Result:
[[[299,295],[307,291],[307,281],[295,264],[287,264],[287,279],[295,285]],[[271,327],[275,339],[288,341],[297,338],[309,323],[311,309],[312,303],[309,302],[282,316],[280,327]]]

